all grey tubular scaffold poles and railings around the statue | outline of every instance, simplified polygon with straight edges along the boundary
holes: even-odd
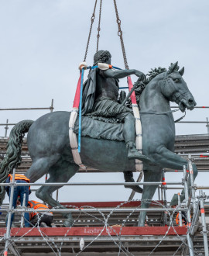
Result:
[[[172,108],[178,108],[177,106],[172,106]],[[209,106],[197,106],[197,109],[208,109]],[[51,106],[48,108],[22,108],[22,109],[0,109],[1,110],[39,110],[39,109],[50,109],[50,112],[53,112],[53,100],[51,102]],[[208,123],[208,119],[206,122],[204,121],[181,121],[179,123],[207,123],[207,133],[209,133],[209,123]],[[7,136],[7,130],[9,129],[9,125],[15,125],[15,123],[9,123],[9,120],[6,120],[6,123],[2,123],[0,124],[0,126],[4,126],[5,125],[5,137]],[[205,156],[209,156],[208,153],[202,153]],[[181,156],[186,156],[188,154],[179,154]],[[167,205],[165,205],[166,207],[166,211],[167,212],[179,212],[180,213],[180,226],[182,226],[182,216],[181,216],[181,212],[182,211],[186,211],[187,212],[187,219],[189,220],[189,225],[188,225],[188,232],[187,232],[187,243],[189,244],[189,251],[190,251],[190,255],[194,255],[194,246],[193,246],[193,236],[194,236],[194,227],[197,224],[197,220],[199,217],[199,213],[201,212],[201,218],[202,218],[202,226],[203,226],[203,237],[204,237],[204,251],[205,251],[205,255],[208,255],[208,243],[207,243],[207,229],[206,229],[206,222],[205,222],[205,214],[204,214],[204,200],[206,199],[206,196],[204,195],[204,193],[202,192],[202,189],[209,189],[209,186],[196,186],[194,185],[194,178],[193,178],[193,170],[192,170],[192,156],[200,156],[201,154],[189,154],[189,167],[190,167],[190,175],[188,175],[187,171],[186,171],[186,167],[183,170],[183,182],[165,182],[164,180],[164,172],[170,171],[170,170],[164,170],[163,171],[163,182],[141,182],[142,180],[142,173],[140,173],[139,178],[137,180],[137,182],[99,182],[99,183],[94,183],[94,182],[83,182],[83,183],[35,183],[35,184],[26,184],[26,185],[55,185],[55,186],[60,186],[60,185],[159,185],[158,186],[158,194],[159,194],[159,199],[161,197],[161,199],[163,199],[163,201],[166,202],[166,190],[167,189],[182,189],[181,187],[167,187],[167,185],[183,185],[185,188],[185,192],[186,192],[186,207],[182,206],[179,202],[179,205],[181,206],[180,208],[178,207],[177,209],[173,209],[173,208],[167,208]],[[186,172],[185,172],[186,171]],[[200,170],[201,171],[201,170]],[[205,171],[205,170],[204,170]],[[13,178],[15,174],[15,169],[13,170]],[[47,178],[47,176],[46,176]],[[191,187],[190,187],[190,194],[191,194],[191,199],[190,199],[190,195],[189,195],[189,188],[188,188],[188,178],[190,178],[190,182],[191,182]],[[0,185],[5,185],[5,183],[0,184]],[[26,209],[26,207],[23,207],[22,209],[12,209],[12,197],[13,197],[13,192],[14,192],[14,188],[17,185],[25,185],[25,184],[16,184],[14,180],[12,180],[12,183],[9,184],[10,186],[12,186],[11,188],[11,198],[10,198],[10,202],[9,202],[9,209],[1,209],[2,212],[8,212],[9,213],[9,217],[8,217],[8,223],[7,223],[7,228],[6,228],[6,234],[5,234],[5,255],[7,255],[8,253],[8,249],[15,255],[19,255],[19,252],[17,250],[15,250],[15,247],[12,246],[12,244],[9,244],[9,239],[10,239],[10,224],[11,224],[11,216],[12,213],[22,213],[22,215],[25,212],[34,212],[33,209]],[[161,193],[160,193],[160,189],[161,188]],[[199,197],[195,195],[195,191],[197,189],[200,189],[200,195]],[[129,200],[133,199],[133,196],[135,195],[134,192],[132,192],[132,194],[129,197]],[[57,199],[58,199],[58,189],[57,189]],[[179,200],[180,200],[180,195],[179,195]],[[24,205],[24,204],[23,204]],[[200,209],[199,209],[199,205],[200,205]],[[104,208],[104,209],[100,209],[103,212],[110,212],[112,209],[111,208]],[[147,212],[152,212],[153,209],[135,209],[135,212],[140,212],[140,211],[147,211]],[[69,212],[76,212],[76,213],[81,213],[83,212],[88,212],[88,213],[94,213],[96,211],[96,209],[90,209],[90,208],[85,208],[85,209],[50,209],[50,212],[53,213],[69,213]],[[119,213],[119,212],[130,212],[132,211],[132,209],[130,208],[126,208],[126,209],[114,209],[114,212]],[[156,212],[164,212],[164,223],[166,223],[166,213],[165,213],[165,209],[158,209],[155,208],[154,211]],[[193,220],[190,220],[190,213],[191,211],[193,211]],[[36,210],[35,212],[46,212],[46,210]],[[21,220],[21,227],[23,225],[23,218]],[[187,251],[186,251],[187,254]]]

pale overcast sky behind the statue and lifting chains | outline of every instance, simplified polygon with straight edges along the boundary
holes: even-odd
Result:
[[[70,111],[93,7],[93,0],[0,0],[1,109],[48,107],[54,99],[55,111]],[[209,106],[208,10],[207,0],[118,0],[129,67],[147,74],[151,67],[167,68],[171,62],[179,61],[180,67],[185,67],[183,78],[197,106]],[[109,50],[112,64],[123,68],[114,12],[113,1],[103,0],[99,49]],[[96,50],[97,26],[98,9],[87,64],[92,64]],[[132,80],[136,78],[133,76]],[[125,86],[125,79],[121,85]],[[46,112],[0,111],[0,123],[6,119],[9,123],[37,119]],[[176,118],[180,116],[180,112],[175,113]],[[187,111],[184,120],[205,121],[207,116],[208,109],[195,109]],[[207,133],[207,128],[205,124],[176,124],[176,134],[189,133]],[[0,126],[0,136],[4,134],[4,127]],[[77,175],[79,178],[71,181],[86,180],[87,176]],[[88,177],[101,181],[103,176],[107,181],[123,180],[122,174]],[[104,187],[101,190],[105,192]],[[129,195],[129,190],[122,187],[111,191],[111,199]],[[89,195],[89,201],[100,199],[99,195],[93,197],[91,188],[85,195]],[[80,190],[77,188],[67,201],[82,201]]]

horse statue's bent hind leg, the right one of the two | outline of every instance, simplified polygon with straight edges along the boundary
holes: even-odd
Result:
[[[77,164],[70,164],[68,161],[59,161],[57,164],[53,165],[49,170],[50,178],[46,183],[56,183],[56,182],[68,182],[71,177],[75,175],[79,167]],[[52,198],[52,193],[62,186],[42,186],[36,191],[36,196],[47,202],[52,207],[58,207],[65,209],[64,206],[60,205],[55,199]],[[71,213],[62,213],[66,220],[63,223],[64,227],[70,227],[73,224],[73,218]]]

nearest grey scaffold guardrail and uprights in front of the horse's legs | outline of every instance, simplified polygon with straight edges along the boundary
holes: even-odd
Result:
[[[205,214],[204,214],[204,200],[206,199],[206,196],[203,194],[201,189],[207,189],[208,187],[198,187],[194,185],[194,178],[193,178],[193,170],[192,170],[192,159],[191,155],[189,156],[189,171],[186,170],[186,166],[183,168],[183,181],[182,182],[165,182],[164,178],[164,172],[163,172],[163,181],[162,182],[79,182],[79,183],[16,183],[15,182],[15,169],[13,169],[13,177],[12,177],[12,182],[9,184],[5,183],[0,183],[0,185],[10,185],[11,188],[11,196],[10,196],[10,202],[9,202],[9,209],[1,209],[2,212],[8,212],[8,223],[6,227],[6,233],[5,233],[5,254],[8,254],[8,249],[10,251],[14,251],[14,247],[9,247],[9,239],[10,239],[10,232],[11,232],[11,217],[12,213],[25,213],[25,212],[36,212],[36,213],[43,213],[47,212],[46,209],[39,209],[39,210],[34,210],[34,209],[27,209],[26,207],[22,207],[22,209],[12,209],[12,201],[13,201],[13,193],[15,186],[19,185],[43,185],[43,186],[49,186],[49,185],[55,185],[55,186],[60,186],[60,185],[159,185],[162,186],[162,198],[166,200],[166,189],[169,189],[167,185],[183,185],[185,189],[185,200],[186,204],[183,206],[183,204],[180,203],[180,194],[179,194],[179,205],[176,208],[167,208],[167,205],[165,205],[165,208],[155,208],[155,209],[140,209],[136,208],[134,209],[135,212],[141,212],[141,211],[146,211],[146,212],[164,212],[165,216],[164,219],[166,220],[166,214],[168,212],[179,212],[180,213],[180,226],[182,226],[182,217],[181,213],[182,211],[187,212],[187,243],[189,246],[189,253],[190,256],[194,255],[194,245],[193,245],[193,235],[194,235],[194,227],[197,224],[198,216],[199,216],[199,204],[200,204],[200,211],[201,211],[201,218],[202,218],[202,226],[203,226],[203,238],[204,238],[204,251],[205,255],[208,255],[208,243],[207,243],[207,228],[206,228],[206,222],[205,222]],[[188,181],[190,179],[191,186],[190,188],[188,187]],[[171,188],[173,189],[173,188]],[[178,188],[179,189],[179,188]],[[182,189],[182,188],[181,188]],[[190,190],[189,190],[190,189]],[[195,195],[195,190],[200,189],[200,196],[197,197]],[[189,193],[190,191],[190,193]],[[191,197],[190,197],[191,195]],[[87,208],[85,207],[84,209],[82,208],[77,208],[77,209],[49,209],[48,211],[53,212],[53,213],[94,213],[97,212],[97,209],[92,209],[92,208]],[[101,208],[101,212],[111,212],[112,208]],[[132,208],[115,208],[114,212],[119,213],[119,212],[132,212]],[[191,211],[193,211],[194,219],[191,220]],[[22,223],[22,222],[21,222]]]

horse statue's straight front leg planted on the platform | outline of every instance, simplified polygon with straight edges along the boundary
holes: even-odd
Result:
[[[162,178],[162,171],[144,171],[144,182],[160,182]],[[158,185],[144,185],[142,193],[141,208],[148,209],[150,200],[156,192]],[[144,227],[146,221],[146,212],[142,211],[139,214],[139,227]]]

